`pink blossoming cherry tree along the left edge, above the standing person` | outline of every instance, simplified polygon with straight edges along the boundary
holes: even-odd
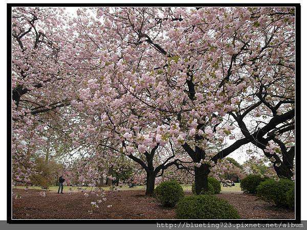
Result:
[[[83,74],[95,69],[85,63],[86,57],[79,57],[82,49],[77,49],[74,31],[68,30],[71,24],[72,17],[64,8],[12,9],[12,159],[16,181],[29,182],[35,168],[31,157],[50,144],[47,139],[54,134],[50,130],[56,129],[61,137],[55,137],[67,140],[65,131],[71,125],[61,122],[74,114],[66,108],[77,98],[74,89],[82,83]]]

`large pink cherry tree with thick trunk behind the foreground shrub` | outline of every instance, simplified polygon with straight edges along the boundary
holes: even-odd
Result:
[[[91,27],[100,30],[93,42],[103,44],[97,45],[97,54],[104,67],[80,99],[91,101],[92,108],[106,102],[114,106],[100,119],[112,123],[111,113],[115,127],[123,121],[116,108],[131,106],[128,114],[134,119],[129,121],[135,126],[116,130],[118,139],[122,135],[133,143],[141,119],[154,124],[146,127],[146,144],[138,143],[138,150],[170,140],[181,146],[195,163],[197,192],[207,189],[207,175],[218,159],[254,140],[259,143],[294,118],[288,106],[294,103],[293,9],[98,8],[94,13]],[[84,15],[79,12],[80,18]],[[268,90],[274,105],[266,101]],[[247,133],[246,116],[265,107],[272,107],[273,117],[265,114],[268,123]],[[212,151],[216,143],[234,139],[235,125],[244,137]],[[134,149],[128,147],[128,154]]]

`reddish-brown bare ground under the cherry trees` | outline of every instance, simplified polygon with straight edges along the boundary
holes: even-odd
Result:
[[[102,199],[96,194],[86,198],[81,192],[48,192],[41,197],[40,190],[35,189],[13,192],[21,195],[20,199],[13,199],[13,219],[175,219],[173,208],[163,208],[142,190],[106,192],[107,200],[97,203],[97,209],[91,207],[92,201]],[[243,219],[294,219],[294,212],[277,209],[253,195],[223,192],[217,196],[234,205]],[[112,208],[107,208],[111,204]]]

